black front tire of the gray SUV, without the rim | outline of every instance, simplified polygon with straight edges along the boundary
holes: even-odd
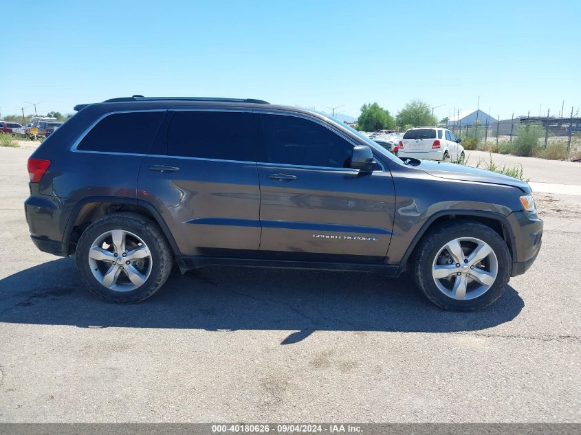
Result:
[[[432,265],[441,247],[461,237],[479,238],[490,245],[498,260],[494,284],[483,295],[470,300],[456,300],[442,293],[432,278]],[[489,306],[503,293],[512,268],[512,257],[501,236],[492,228],[476,221],[461,221],[437,227],[421,238],[412,260],[413,278],[426,298],[442,309],[475,311]]]

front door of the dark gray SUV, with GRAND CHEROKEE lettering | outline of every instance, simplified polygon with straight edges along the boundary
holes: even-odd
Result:
[[[261,114],[261,255],[380,263],[393,229],[390,172],[350,168],[353,142],[329,124]]]

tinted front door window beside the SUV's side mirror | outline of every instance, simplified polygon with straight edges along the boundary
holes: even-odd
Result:
[[[285,115],[261,115],[267,161],[349,168],[353,145],[316,122]]]

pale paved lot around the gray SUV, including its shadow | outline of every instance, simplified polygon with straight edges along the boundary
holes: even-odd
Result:
[[[539,197],[538,260],[479,313],[405,279],[234,268],[119,306],[30,242],[30,152],[0,148],[0,421],[581,420],[579,197]]]

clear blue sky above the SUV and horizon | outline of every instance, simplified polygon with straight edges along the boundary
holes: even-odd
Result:
[[[358,116],[421,98],[501,117],[581,106],[579,1],[11,1],[0,111],[229,96]],[[25,109],[32,113],[32,107]]]

